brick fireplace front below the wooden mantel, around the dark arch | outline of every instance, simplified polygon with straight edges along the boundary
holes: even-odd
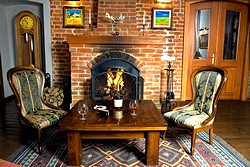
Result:
[[[100,48],[101,47],[101,48]],[[152,99],[159,105],[161,92],[162,44],[155,45],[79,45],[71,44],[71,76],[73,103],[82,98],[91,98],[91,69],[89,62],[108,50],[122,50],[139,62],[140,75],[144,78],[144,99]],[[91,50],[91,53],[86,52]]]

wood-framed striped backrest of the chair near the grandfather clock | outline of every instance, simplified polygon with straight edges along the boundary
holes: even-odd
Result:
[[[34,66],[18,66],[10,69],[7,77],[22,116],[43,108],[41,98],[45,77],[40,69]]]

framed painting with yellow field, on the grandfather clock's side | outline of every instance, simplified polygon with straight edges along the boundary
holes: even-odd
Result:
[[[64,28],[83,28],[85,19],[84,6],[64,6],[63,7],[63,27]]]

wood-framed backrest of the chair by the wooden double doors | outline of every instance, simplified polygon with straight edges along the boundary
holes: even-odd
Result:
[[[216,67],[203,67],[192,74],[194,109],[211,115],[226,82],[226,73]]]

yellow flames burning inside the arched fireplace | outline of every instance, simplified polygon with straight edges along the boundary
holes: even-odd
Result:
[[[124,69],[118,69],[116,74],[114,75],[111,69],[108,69],[107,72],[107,87],[108,90],[113,89],[116,91],[120,91],[124,87],[124,81],[122,75],[124,73]]]

